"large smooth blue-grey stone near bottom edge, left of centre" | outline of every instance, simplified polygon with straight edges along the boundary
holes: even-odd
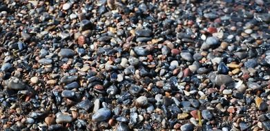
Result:
[[[108,108],[101,108],[95,112],[92,116],[93,121],[106,121],[108,118],[110,118],[110,110]]]

